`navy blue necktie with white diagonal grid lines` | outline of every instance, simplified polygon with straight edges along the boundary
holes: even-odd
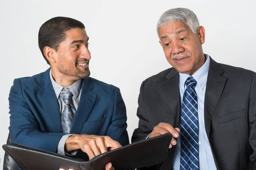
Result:
[[[180,170],[198,170],[198,99],[197,82],[192,76],[186,79],[181,104]]]

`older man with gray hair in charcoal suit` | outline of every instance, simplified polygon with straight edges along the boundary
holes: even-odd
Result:
[[[256,74],[204,54],[189,9],[164,12],[157,33],[172,68],[143,81],[131,140],[174,138],[166,161],[145,169],[256,170]]]

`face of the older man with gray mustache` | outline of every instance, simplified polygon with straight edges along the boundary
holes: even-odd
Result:
[[[167,61],[179,73],[192,75],[204,64],[204,27],[194,34],[187,24],[176,21],[161,26],[158,34]]]

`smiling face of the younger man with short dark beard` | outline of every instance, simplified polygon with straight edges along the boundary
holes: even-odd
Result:
[[[88,40],[85,29],[66,31],[66,39],[54,51],[56,62],[51,65],[52,70],[61,74],[58,77],[78,80],[90,76]]]

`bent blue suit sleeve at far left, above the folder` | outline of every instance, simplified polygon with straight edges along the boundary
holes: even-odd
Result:
[[[37,120],[22,94],[22,84],[15,79],[9,94],[9,113],[12,142],[29,147],[57,152],[64,133],[42,133]]]

